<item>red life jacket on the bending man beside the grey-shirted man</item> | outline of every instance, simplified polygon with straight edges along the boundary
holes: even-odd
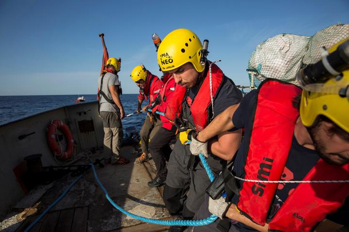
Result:
[[[153,75],[148,71],[146,82],[144,85],[144,92],[142,93],[140,91],[140,94],[138,95],[139,100],[146,100],[149,102],[148,105],[150,105],[156,97],[158,97],[160,93],[160,89],[162,87],[162,82],[159,79],[158,76]]]

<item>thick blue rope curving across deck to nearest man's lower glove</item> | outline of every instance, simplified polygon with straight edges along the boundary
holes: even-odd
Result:
[[[204,157],[204,156],[203,156]],[[204,158],[205,159],[205,158]],[[206,161],[206,160],[205,160]],[[206,162],[207,163],[207,162]],[[147,222],[147,223],[153,223],[153,224],[158,224],[158,225],[164,225],[164,226],[205,226],[208,224],[211,224],[212,222],[214,222],[217,219],[217,216],[215,215],[211,215],[210,217],[207,217],[205,219],[201,219],[201,220],[159,220],[159,219],[153,219],[153,218],[147,218],[147,217],[141,217],[135,214],[132,214],[128,211],[126,211],[125,209],[121,208],[119,205],[117,205],[116,203],[113,202],[113,200],[111,200],[110,196],[108,195],[107,190],[104,188],[103,184],[100,182],[100,180],[98,179],[98,176],[95,172],[95,167],[93,164],[91,164],[92,166],[92,170],[95,174],[95,180],[97,181],[97,183],[99,184],[99,186],[102,188],[103,192],[105,193],[108,201],[120,212],[126,214],[127,216],[133,217],[135,219]]]

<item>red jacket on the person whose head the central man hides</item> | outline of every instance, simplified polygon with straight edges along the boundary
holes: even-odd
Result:
[[[162,82],[164,83],[163,87],[160,90],[160,96],[161,96],[161,103],[159,105],[156,105],[153,108],[153,112],[159,111],[159,112],[165,112],[167,107],[167,102],[170,102],[174,93],[174,77],[171,74],[166,74]],[[160,120],[162,122],[162,127],[166,128],[167,130],[171,130],[172,126],[174,125],[173,122],[171,122],[168,118],[165,116],[160,115]]]

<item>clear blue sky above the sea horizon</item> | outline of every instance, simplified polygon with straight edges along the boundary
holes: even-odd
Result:
[[[349,23],[349,0],[270,1],[0,1],[0,95],[95,94],[105,34],[110,57],[121,57],[124,93],[143,63],[160,75],[151,34],[178,28],[209,40],[210,60],[237,85],[257,44],[280,33],[313,35]]]

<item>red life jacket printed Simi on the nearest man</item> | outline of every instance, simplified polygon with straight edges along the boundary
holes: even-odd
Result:
[[[280,180],[292,144],[299,111],[292,106],[301,94],[297,86],[276,80],[260,88],[245,165],[245,179]],[[331,165],[320,159],[303,180],[349,179],[349,164]],[[278,183],[245,181],[237,207],[255,223],[265,225]],[[300,183],[269,222],[270,231],[310,231],[349,195],[349,183]]]

